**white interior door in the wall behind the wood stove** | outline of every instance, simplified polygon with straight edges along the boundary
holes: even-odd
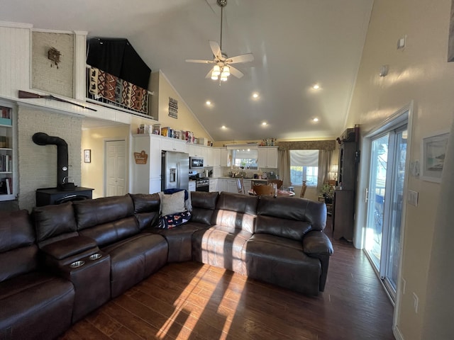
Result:
[[[106,192],[104,196],[126,194],[126,142],[106,141]]]

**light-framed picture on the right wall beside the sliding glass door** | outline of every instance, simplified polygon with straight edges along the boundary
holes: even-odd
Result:
[[[448,132],[423,138],[421,145],[421,179],[424,181],[440,182],[445,163]]]

